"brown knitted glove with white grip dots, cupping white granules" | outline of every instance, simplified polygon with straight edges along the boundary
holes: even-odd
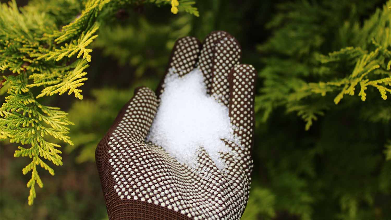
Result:
[[[228,106],[242,146],[225,140],[232,152],[221,154],[223,172],[202,148],[197,170],[191,170],[163,148],[146,143],[164,78],[156,95],[145,87],[135,90],[96,149],[109,219],[240,219],[253,166],[256,79],[255,69],[240,64],[240,56],[237,40],[216,31],[202,46],[192,37],[178,39],[167,68],[184,75],[197,66],[208,93]]]

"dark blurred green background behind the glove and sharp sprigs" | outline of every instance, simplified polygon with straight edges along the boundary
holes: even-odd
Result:
[[[277,81],[291,74],[306,82],[349,75],[354,63],[343,61],[334,69],[335,75],[318,74],[323,65],[314,56],[364,45],[356,39],[362,36],[359,27],[377,9],[384,10],[384,4],[380,0],[197,0],[199,17],[171,14],[169,6],[118,11],[93,42],[88,80],[81,87],[84,99],[44,98],[45,104],[69,113],[75,123],[70,133],[75,145],[63,147],[63,166],[53,167],[54,177],[40,172],[45,186],[37,187],[33,206],[27,205],[29,175],[21,172],[29,158],[15,159],[18,145],[1,143],[1,219],[107,218],[95,147],[134,88],[156,88],[176,39],[202,40],[212,30],[235,36],[242,45],[242,63],[259,72],[257,101],[261,102],[265,95],[290,92],[278,86],[262,90],[270,75]],[[5,89],[0,90],[2,102]],[[306,123],[278,99],[270,99],[273,107],[267,114],[258,104],[253,183],[242,219],[391,219],[391,103],[376,92],[368,91],[366,102],[356,95],[338,105],[332,101],[335,92],[314,95],[309,106],[319,101],[327,107],[308,131]]]

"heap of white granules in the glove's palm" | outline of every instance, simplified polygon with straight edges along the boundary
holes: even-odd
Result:
[[[206,94],[202,72],[195,68],[179,77],[171,71],[160,98],[147,140],[190,168],[197,167],[197,155],[203,147],[217,168],[223,170],[219,152],[229,152],[230,148],[221,139],[237,139],[228,107]]]

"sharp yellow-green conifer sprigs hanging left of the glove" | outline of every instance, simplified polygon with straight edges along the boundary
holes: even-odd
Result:
[[[50,3],[49,3],[50,2]],[[29,205],[36,197],[35,184],[41,166],[52,175],[47,161],[62,165],[55,139],[73,145],[67,113],[45,106],[39,98],[55,94],[83,99],[85,72],[91,61],[91,43],[106,18],[129,5],[170,4],[172,13],[185,11],[198,16],[188,0],[32,0],[25,7],[15,1],[0,5],[0,71],[8,96],[0,108],[0,139],[20,143],[14,157],[32,159],[23,174],[31,172]],[[66,9],[66,10],[65,10]],[[40,88],[33,94],[33,88]],[[35,91],[35,90],[34,90]],[[46,161],[46,162],[45,162]]]

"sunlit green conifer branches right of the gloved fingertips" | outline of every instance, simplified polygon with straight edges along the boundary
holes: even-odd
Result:
[[[264,59],[267,66],[260,73],[265,81],[256,109],[263,112],[264,121],[274,109],[285,106],[287,112],[297,112],[308,130],[318,116],[333,108],[329,96],[339,104],[346,95],[365,101],[367,93],[377,91],[387,100],[391,94],[391,2],[363,25],[357,21],[359,16],[376,1],[362,4],[362,11],[348,1],[280,5],[281,13],[268,24],[276,29],[274,36],[258,47],[274,54]],[[380,106],[385,108],[384,103]],[[382,111],[375,114],[371,118],[391,117]]]

